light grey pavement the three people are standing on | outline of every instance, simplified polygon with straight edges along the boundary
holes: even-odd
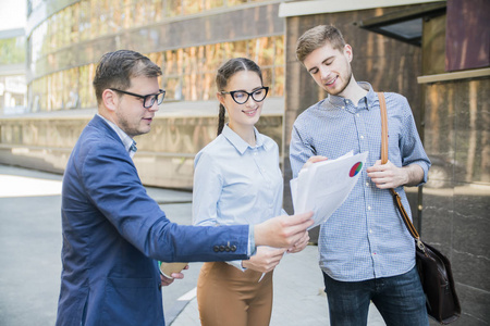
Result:
[[[61,175],[0,165],[0,325],[54,325],[61,274]],[[147,188],[172,222],[192,223],[192,193]],[[317,247],[286,254],[274,271],[270,326],[329,325]],[[162,289],[167,326],[200,325],[201,263]],[[371,304],[369,326],[385,325]]]

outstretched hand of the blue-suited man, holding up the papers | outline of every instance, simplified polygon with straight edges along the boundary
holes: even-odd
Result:
[[[254,226],[255,244],[274,248],[291,248],[314,224],[313,212],[277,216]]]

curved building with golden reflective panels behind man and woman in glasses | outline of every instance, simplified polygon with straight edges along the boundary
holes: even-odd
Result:
[[[215,75],[247,57],[270,87],[258,127],[281,146],[284,20],[280,1],[28,1],[27,113],[1,121],[0,163],[62,173],[96,113],[91,80],[102,54],[135,50],[161,66],[167,90],[135,164],[147,185],[191,189],[194,154],[216,136]],[[282,151],[281,151],[282,153]]]

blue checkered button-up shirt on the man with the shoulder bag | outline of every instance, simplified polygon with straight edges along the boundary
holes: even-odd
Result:
[[[401,275],[415,265],[414,239],[388,189],[378,189],[366,167],[381,156],[381,115],[377,93],[368,90],[357,105],[341,97],[327,99],[303,112],[293,126],[290,160],[297,176],[309,156],[336,159],[353,150],[369,151],[362,175],[346,201],[320,227],[320,267],[342,281]],[[418,136],[407,100],[384,93],[388,108],[389,160],[396,166],[418,164],[424,181],[430,161]],[[403,187],[395,189],[411,214]]]

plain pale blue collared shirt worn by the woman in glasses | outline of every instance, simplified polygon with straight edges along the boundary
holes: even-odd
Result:
[[[194,161],[195,225],[259,224],[283,214],[279,148],[254,129],[249,146],[228,125]],[[230,262],[241,267],[241,262]]]

